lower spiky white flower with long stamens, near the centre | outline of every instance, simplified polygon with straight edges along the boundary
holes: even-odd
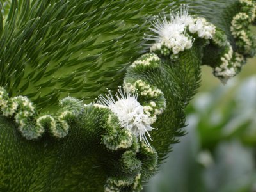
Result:
[[[140,141],[144,140],[150,146],[147,136],[151,141],[152,139],[148,131],[154,128],[150,126],[150,118],[144,113],[143,106],[137,100],[138,94],[131,93],[131,90],[123,92],[121,87],[118,89],[118,93],[116,93],[117,100],[110,92],[106,97],[100,95],[98,103],[108,106],[118,117],[121,127],[129,129],[134,136],[140,136]]]

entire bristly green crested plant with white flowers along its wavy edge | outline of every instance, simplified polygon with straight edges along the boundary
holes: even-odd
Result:
[[[185,132],[200,65],[226,83],[255,54],[252,0],[0,7],[0,191],[141,191]]]

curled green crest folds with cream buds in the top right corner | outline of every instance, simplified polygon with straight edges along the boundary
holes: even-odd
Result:
[[[212,38],[214,46],[210,44],[205,49],[205,64],[212,66],[214,76],[224,84],[240,72],[246,63],[246,57],[254,56],[256,49],[255,38],[249,29],[250,23],[255,19],[256,3],[251,0],[240,0],[238,4],[239,13],[232,18],[230,26],[236,46],[232,47],[224,31],[217,28]]]

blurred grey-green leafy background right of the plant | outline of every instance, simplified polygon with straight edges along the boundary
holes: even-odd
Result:
[[[188,134],[144,191],[256,191],[256,58],[226,85],[203,66],[187,114]]]

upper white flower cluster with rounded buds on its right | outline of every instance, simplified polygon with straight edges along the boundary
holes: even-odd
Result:
[[[153,22],[154,28],[149,28],[156,35],[148,35],[147,40],[155,40],[150,51],[161,51],[169,49],[173,54],[179,54],[193,45],[193,38],[186,32],[196,33],[199,38],[211,39],[215,33],[214,25],[207,22],[204,18],[193,19],[188,15],[188,5],[182,4],[180,12],[170,13],[170,20],[164,17],[157,17]]]

